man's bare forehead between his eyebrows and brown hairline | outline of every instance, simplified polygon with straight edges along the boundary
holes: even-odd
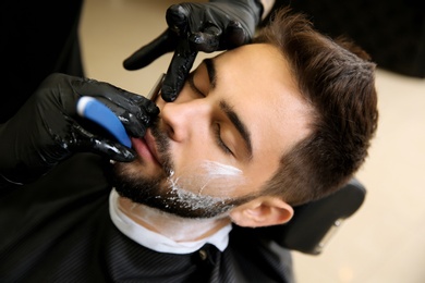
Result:
[[[311,109],[286,58],[270,45],[247,45],[215,59],[217,93],[252,133],[254,162],[277,165],[309,133]]]

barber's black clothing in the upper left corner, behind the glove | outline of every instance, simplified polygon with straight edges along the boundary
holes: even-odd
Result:
[[[4,0],[1,14],[0,123],[50,73],[82,76],[78,22],[83,0]]]

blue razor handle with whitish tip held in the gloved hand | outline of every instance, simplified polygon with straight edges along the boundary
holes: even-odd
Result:
[[[118,116],[99,100],[83,96],[76,103],[76,111],[82,118],[88,119],[107,130],[118,142],[126,147],[132,146],[129,135]]]

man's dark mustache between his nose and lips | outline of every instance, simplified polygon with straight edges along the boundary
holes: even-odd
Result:
[[[166,172],[167,176],[172,176],[174,174],[174,163],[171,158],[170,150],[170,137],[166,131],[161,130],[161,120],[156,118],[153,121],[150,126],[150,133],[155,138],[155,144],[158,150],[158,158],[162,164],[162,169]]]

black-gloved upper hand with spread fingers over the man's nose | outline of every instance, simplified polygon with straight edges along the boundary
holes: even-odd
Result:
[[[211,0],[181,3],[167,10],[168,29],[124,61],[126,70],[150,64],[174,51],[162,84],[162,98],[173,101],[198,51],[214,52],[247,44],[259,23],[263,7],[255,0]]]

